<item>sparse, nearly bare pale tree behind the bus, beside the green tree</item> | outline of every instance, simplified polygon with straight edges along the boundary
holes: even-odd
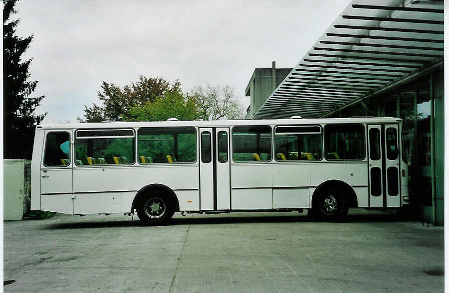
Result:
[[[196,86],[190,96],[195,99],[200,120],[238,119],[244,116],[243,107],[233,89],[227,85],[220,87],[208,84],[206,88]]]

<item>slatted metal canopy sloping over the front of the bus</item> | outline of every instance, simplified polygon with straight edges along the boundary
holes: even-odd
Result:
[[[443,64],[444,1],[354,0],[254,119],[329,116]]]

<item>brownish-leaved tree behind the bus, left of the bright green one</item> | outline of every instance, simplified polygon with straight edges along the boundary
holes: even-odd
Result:
[[[139,81],[132,82],[122,88],[103,81],[101,91],[98,91],[98,98],[102,105],[93,104],[88,108],[84,106],[84,118],[77,118],[81,122],[101,122],[123,120],[129,116],[129,110],[136,105],[145,105],[148,101],[153,103],[166,91],[170,93],[179,92],[181,83],[176,80],[171,85],[162,77],[139,76]]]

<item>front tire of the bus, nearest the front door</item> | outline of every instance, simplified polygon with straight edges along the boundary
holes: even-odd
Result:
[[[343,198],[343,190],[339,188],[324,190],[313,205],[313,216],[324,221],[344,222],[349,206]]]

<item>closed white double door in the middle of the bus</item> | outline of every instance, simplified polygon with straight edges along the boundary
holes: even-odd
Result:
[[[200,128],[200,209],[229,210],[229,128]]]

